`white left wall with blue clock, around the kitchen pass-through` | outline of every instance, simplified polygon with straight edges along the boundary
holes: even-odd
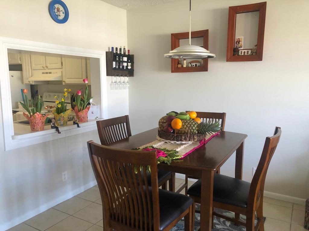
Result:
[[[66,0],[70,18],[65,24],[57,24],[49,16],[49,2],[2,1],[2,7],[7,10],[0,14],[0,36],[100,51],[127,45],[125,10],[99,0],[87,0],[85,10],[84,0]],[[115,15],[118,20],[111,21]],[[114,113],[111,105],[109,115],[128,114],[128,94],[122,97],[117,106],[122,104],[123,110]],[[0,122],[3,131],[5,121]],[[19,224],[95,184],[88,140],[99,142],[97,132],[4,152],[1,133],[0,230]],[[62,182],[64,171],[68,172],[68,180]]]

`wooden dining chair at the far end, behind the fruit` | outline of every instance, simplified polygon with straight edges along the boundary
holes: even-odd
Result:
[[[186,112],[188,112],[188,111],[186,111]],[[196,111],[196,114],[197,114],[197,117],[200,118],[202,122],[205,121],[205,123],[207,123],[208,121],[217,122],[219,120],[220,121],[220,126],[221,126],[221,131],[224,131],[225,117],[226,117],[226,113],[225,112],[201,112],[201,111]],[[220,173],[220,168],[218,168],[216,172]],[[184,194],[187,195],[187,191],[188,191],[188,178],[196,179],[196,180],[199,179],[199,177],[196,177],[196,176],[185,175],[185,182],[177,190],[177,192],[181,192],[184,189]]]

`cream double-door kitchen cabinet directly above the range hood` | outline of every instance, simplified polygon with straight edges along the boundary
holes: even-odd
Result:
[[[47,70],[47,69],[61,69],[62,63],[60,57],[30,55],[31,70]]]

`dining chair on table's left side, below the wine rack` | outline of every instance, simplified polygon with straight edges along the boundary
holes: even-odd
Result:
[[[108,145],[113,142],[128,138],[131,135],[129,115],[124,115],[107,120],[98,120],[97,128],[102,145]],[[148,184],[151,184],[150,174],[147,173]],[[159,187],[175,192],[175,173],[165,170],[158,170]]]

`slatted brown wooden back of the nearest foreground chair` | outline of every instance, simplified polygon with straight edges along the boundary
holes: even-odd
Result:
[[[92,140],[87,144],[102,199],[104,230],[159,230],[156,152],[110,148]]]

